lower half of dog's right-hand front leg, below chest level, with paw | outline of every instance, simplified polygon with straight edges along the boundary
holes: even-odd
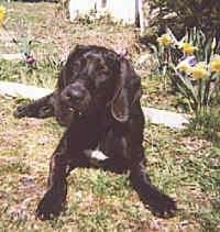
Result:
[[[144,158],[131,166],[130,180],[144,205],[157,217],[169,218],[177,210],[176,202],[165,194],[161,192],[151,184],[145,173]]]

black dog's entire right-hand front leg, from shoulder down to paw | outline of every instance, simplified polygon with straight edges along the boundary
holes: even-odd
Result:
[[[148,205],[151,211],[158,217],[173,217],[177,210],[176,202],[161,192],[151,184],[145,168],[144,148],[142,146],[144,115],[140,104],[133,109],[130,133],[127,134],[128,156],[130,157],[130,180],[133,188],[144,205]]]

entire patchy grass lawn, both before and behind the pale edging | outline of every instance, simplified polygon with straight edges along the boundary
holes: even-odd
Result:
[[[22,62],[0,60],[0,80],[52,88],[57,60],[77,43],[125,46],[133,59],[140,51],[132,27],[70,24],[54,3],[12,2],[7,7],[9,32],[21,45],[23,37],[33,41],[37,65],[30,68]],[[18,51],[0,37],[1,53]],[[165,92],[160,79],[143,75],[142,82],[143,104],[176,109],[177,99]],[[147,172],[160,189],[177,200],[176,217],[152,216],[131,188],[128,175],[81,168],[68,177],[66,211],[57,220],[36,220],[34,211],[45,190],[50,156],[64,129],[53,119],[14,119],[12,112],[21,101],[0,97],[0,232],[220,231],[220,148],[184,131],[147,122]]]

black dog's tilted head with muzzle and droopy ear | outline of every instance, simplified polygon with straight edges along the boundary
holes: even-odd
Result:
[[[129,119],[130,104],[141,97],[140,77],[129,62],[97,46],[80,46],[69,55],[58,90],[63,108],[92,114],[109,107],[120,122]]]

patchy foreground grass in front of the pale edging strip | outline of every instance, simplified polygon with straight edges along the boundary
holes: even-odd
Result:
[[[147,173],[158,188],[177,199],[180,211],[174,219],[154,218],[130,187],[128,175],[81,168],[68,177],[68,205],[62,217],[36,221],[34,210],[45,190],[48,159],[64,129],[52,119],[13,119],[15,104],[0,98],[2,231],[151,231],[155,220],[173,231],[178,227],[218,231],[219,150],[152,124],[146,125],[144,143]]]

